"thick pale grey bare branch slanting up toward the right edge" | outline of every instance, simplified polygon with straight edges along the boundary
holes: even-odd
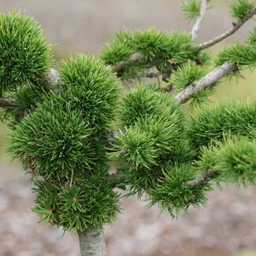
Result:
[[[193,83],[185,87],[178,95],[175,96],[176,102],[182,104],[187,102],[196,92],[204,89],[210,88],[213,83],[221,80],[224,76],[227,76],[231,72],[237,70],[237,65],[229,62],[225,62],[221,66],[213,69],[212,72],[208,73],[206,76],[202,76],[199,80],[195,80]]]

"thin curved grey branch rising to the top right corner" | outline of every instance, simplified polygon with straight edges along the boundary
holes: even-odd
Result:
[[[247,17],[244,17],[243,20],[240,20],[238,23],[233,23],[233,27],[230,28],[227,32],[224,32],[221,35],[218,35],[214,39],[210,39],[209,41],[206,41],[205,43],[201,43],[199,45],[199,50],[206,49],[210,46],[213,46],[215,43],[221,42],[221,40],[227,38],[229,35],[234,34],[239,28],[243,26],[247,22],[247,20],[250,20],[251,17],[256,14],[256,6],[254,6],[254,9],[250,11],[250,13],[247,14]]]

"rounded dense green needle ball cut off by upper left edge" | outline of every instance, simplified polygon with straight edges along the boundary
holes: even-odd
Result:
[[[50,45],[32,18],[0,13],[0,96],[24,83],[38,83],[50,69]]]

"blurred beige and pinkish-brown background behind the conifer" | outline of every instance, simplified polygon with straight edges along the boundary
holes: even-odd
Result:
[[[102,46],[122,28],[172,31],[191,30],[175,0],[0,0],[1,12],[17,9],[35,17],[53,45],[57,61],[76,52],[98,54]],[[213,1],[197,42],[211,39],[231,27],[224,0]],[[222,46],[246,39],[255,26],[250,20],[235,35],[210,48],[216,54]],[[56,62],[55,67],[58,67]],[[245,80],[225,81],[212,103],[222,98],[254,100],[256,72],[243,72]],[[33,195],[29,177],[19,163],[5,153],[6,126],[0,126],[0,255],[78,255],[76,234],[61,228],[40,226],[31,212]],[[209,193],[203,209],[190,209],[173,220],[158,208],[147,210],[145,202],[128,198],[113,227],[106,227],[109,256],[255,256],[255,187],[226,187]]]

